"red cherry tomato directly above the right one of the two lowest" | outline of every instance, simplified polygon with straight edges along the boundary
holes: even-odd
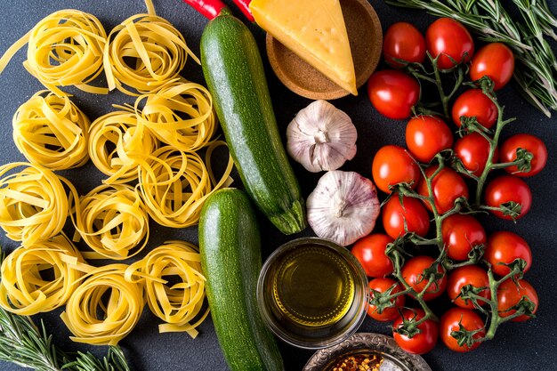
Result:
[[[447,294],[455,305],[461,308],[474,308],[471,300],[464,300],[459,296],[461,293],[460,289],[466,285],[472,285],[477,288],[487,287],[485,290],[480,291],[479,295],[486,299],[491,298],[488,272],[482,270],[477,265],[464,265],[464,267],[458,267],[448,274]],[[486,302],[478,300],[478,303],[483,305]]]

